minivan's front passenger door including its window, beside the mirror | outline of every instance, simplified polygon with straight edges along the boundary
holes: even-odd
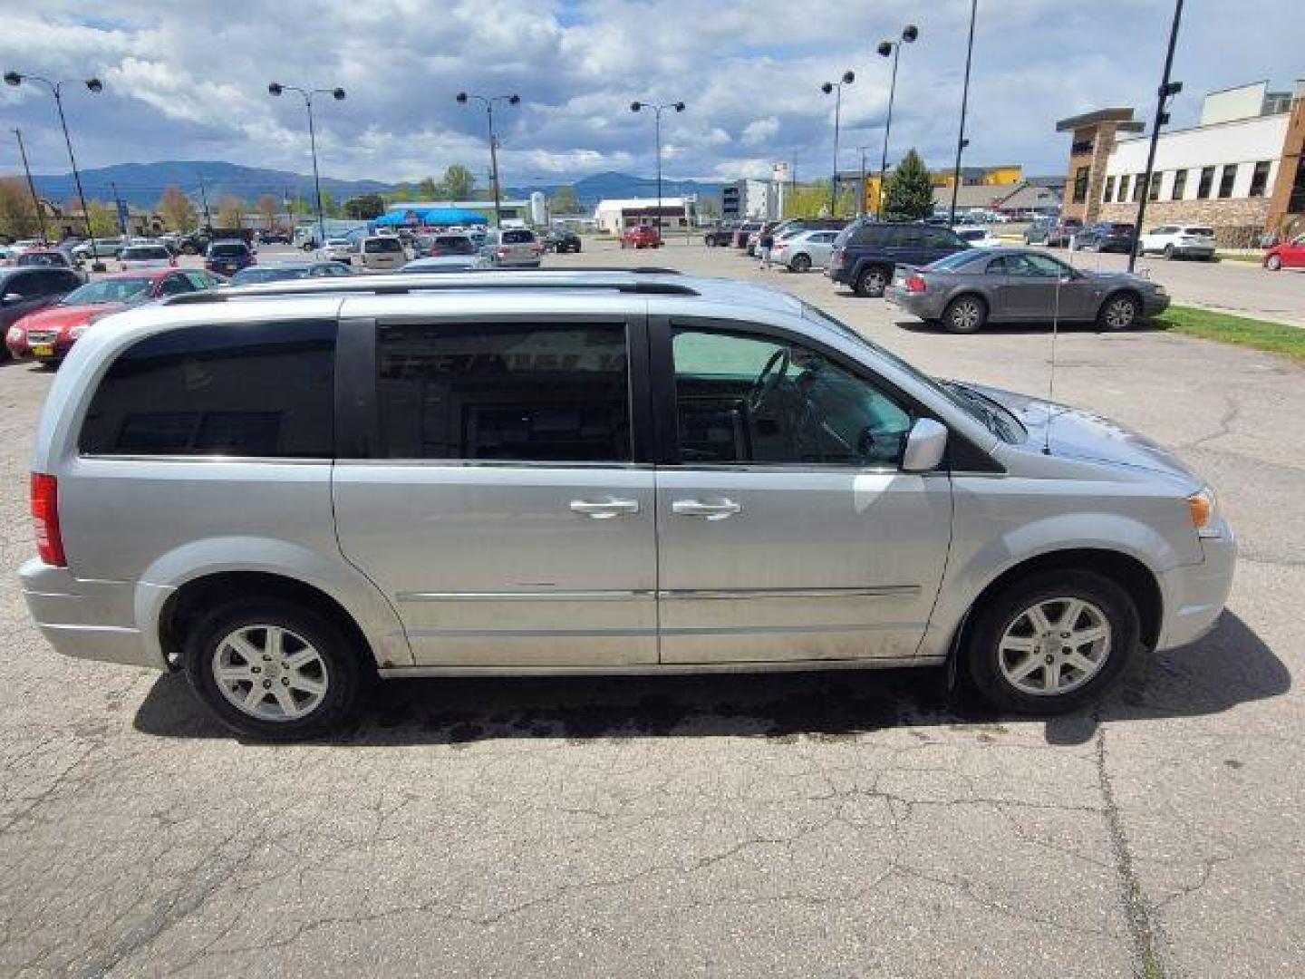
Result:
[[[659,322],[663,663],[908,658],[951,534],[945,473],[899,471],[912,415],[773,328]]]

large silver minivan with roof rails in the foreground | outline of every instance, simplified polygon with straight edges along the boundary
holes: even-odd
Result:
[[[1171,452],[940,382],[776,290],[639,272],[304,279],[100,321],[37,432],[27,606],[311,735],[371,676],[945,666],[1098,697],[1219,617]]]

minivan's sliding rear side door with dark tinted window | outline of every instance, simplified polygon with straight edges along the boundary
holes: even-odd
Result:
[[[335,466],[335,520],[415,662],[655,663],[654,473],[634,462],[646,402],[630,394],[642,317],[342,334],[364,324],[373,386],[356,394],[376,420],[364,458]]]

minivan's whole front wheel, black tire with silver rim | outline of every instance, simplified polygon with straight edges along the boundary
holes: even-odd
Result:
[[[998,710],[1064,714],[1118,677],[1139,636],[1137,606],[1114,581],[1044,572],[985,602],[962,654],[975,689]]]

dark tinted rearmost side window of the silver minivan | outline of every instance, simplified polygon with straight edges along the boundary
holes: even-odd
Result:
[[[329,458],[333,321],[187,326],[110,367],[82,423],[87,454]]]

